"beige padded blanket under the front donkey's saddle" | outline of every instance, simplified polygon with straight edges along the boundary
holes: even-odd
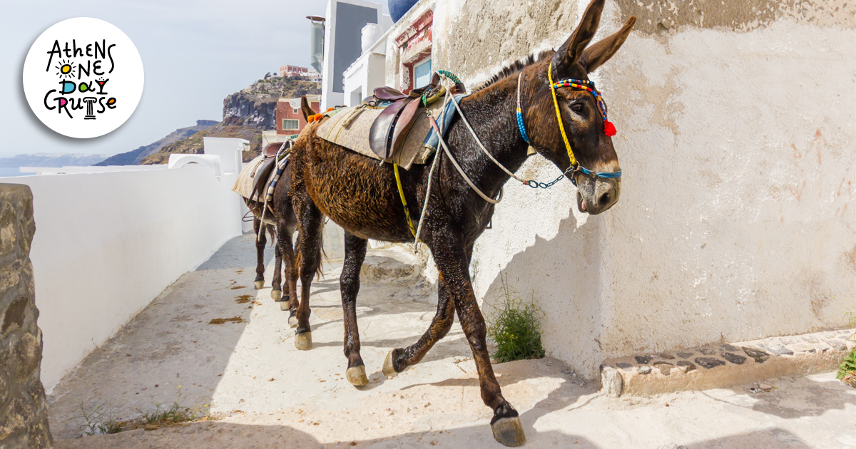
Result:
[[[464,95],[455,95],[455,99],[459,101],[461,97],[464,97]],[[440,115],[441,109],[443,109],[443,97],[429,104],[427,108],[434,117]],[[316,130],[318,137],[380,161],[381,158],[372,151],[369,145],[369,130],[372,128],[372,123],[377,116],[383,112],[383,108],[354,106],[351,108],[336,109],[335,112],[335,115],[330,114],[330,117],[324,120],[321,126],[318,127]],[[452,100],[449,100],[446,112],[443,114],[443,120],[436,119],[437,125],[443,127],[443,133],[448,129],[449,122],[454,114],[455,105],[452,104]],[[438,139],[433,134],[434,130],[431,129],[431,121],[428,120],[425,112],[420,110],[419,118],[413,122],[413,126],[410,127],[407,136],[404,138],[404,144],[395,150],[392,157],[383,161],[395,162],[406,170],[414,163],[425,163],[428,157],[431,157],[431,154],[437,151]]]

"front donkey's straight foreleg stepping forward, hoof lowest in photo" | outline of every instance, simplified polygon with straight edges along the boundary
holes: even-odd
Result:
[[[485,341],[487,329],[484,327],[484,316],[479,310],[470,281],[467,254],[455,239],[441,237],[432,243],[431,253],[437,261],[437,270],[455,301],[461,328],[464,329],[467,342],[473,350],[473,359],[479,371],[482,400],[484,405],[493,409],[493,419],[490,420],[493,436],[505,446],[520,446],[526,442],[526,436],[523,434],[517,411],[502,397],[499,382],[496,381],[493,367],[490,366]]]

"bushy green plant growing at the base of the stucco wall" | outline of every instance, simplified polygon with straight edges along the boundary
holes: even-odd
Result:
[[[493,357],[498,362],[544,357],[541,346],[541,317],[544,312],[508,284],[508,275],[500,277],[502,287],[494,294],[487,334],[496,343]]]

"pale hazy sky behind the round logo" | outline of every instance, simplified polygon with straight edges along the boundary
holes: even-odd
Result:
[[[386,3],[381,0],[380,3]],[[326,0],[3,0],[0,15],[0,157],[31,153],[113,155],[199,119],[223,119],[223,98],[284,64],[309,67],[307,15]],[[27,51],[59,21],[95,17],[121,29],[143,61],[134,115],[112,133],[72,139],[45,127],[22,87]]]

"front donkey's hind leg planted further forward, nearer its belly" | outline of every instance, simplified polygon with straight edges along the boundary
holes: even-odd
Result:
[[[345,322],[345,357],[348,357],[348,381],[362,387],[368,385],[366,365],[360,357],[360,329],[357,328],[357,293],[360,292],[360,269],[366,260],[366,239],[345,233],[345,263],[339,276],[342,311]]]

